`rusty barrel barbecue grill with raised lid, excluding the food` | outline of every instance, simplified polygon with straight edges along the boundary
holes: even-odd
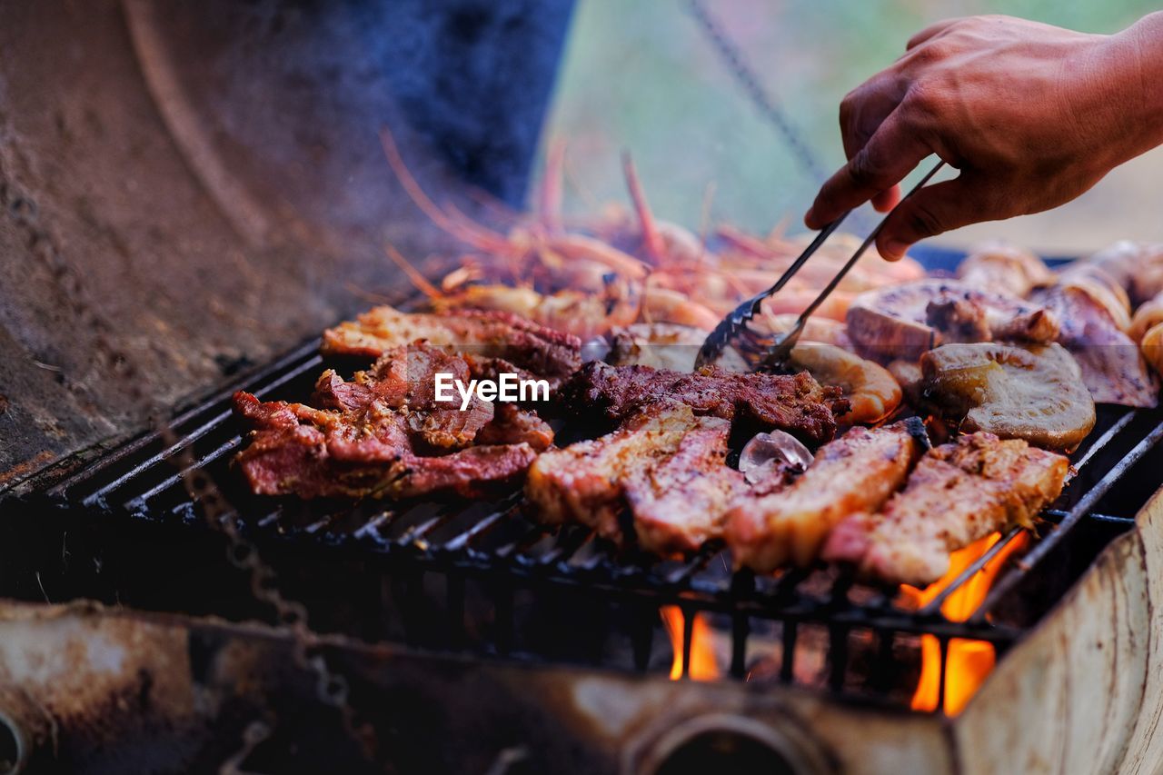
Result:
[[[520,199],[535,140],[523,127],[543,109],[569,14],[568,3],[497,3],[534,20],[525,29],[454,3],[459,21],[433,31],[409,3],[390,19],[341,5],[219,8],[212,21],[128,0],[85,10],[44,2],[13,9],[9,30],[45,35],[0,31],[0,128],[12,138],[0,147],[0,244],[33,268],[27,299],[0,290],[23,315],[0,333],[24,326],[44,339],[40,358],[0,340],[19,377],[0,396],[0,422],[16,429],[0,450],[0,762],[12,772],[1158,768],[1160,411],[1100,407],[1037,534],[1000,536],[920,603],[823,567],[735,573],[714,546],[687,561],[651,559],[579,527],[548,529],[519,495],[468,505],[251,495],[230,468],[242,443],[233,391],[305,398],[326,365],[319,342],[272,354],[365,306],[348,278],[405,296],[377,257],[384,228],[400,244],[435,243],[412,211],[380,225],[402,194],[379,179],[374,128],[411,115],[401,142],[428,185],[470,178]],[[402,56],[373,34],[395,30],[383,37],[394,40],[400,24],[415,24],[418,40],[473,24],[528,36],[483,44],[545,63],[514,90],[531,98],[514,102],[512,125],[481,133],[499,145],[473,158],[499,164],[433,152],[469,143],[457,128],[485,119],[450,127],[436,108],[415,119],[430,83],[412,84],[404,105],[369,100],[401,88],[393,67],[408,63],[370,64]],[[63,42],[69,26],[85,30],[73,36],[79,54]],[[359,55],[337,64],[331,52],[347,45]],[[450,69],[476,62],[468,48],[448,57]],[[424,80],[438,81],[437,64],[423,62]],[[43,86],[58,81],[67,91],[53,102]],[[87,95],[98,84],[110,94]],[[259,92],[269,109],[247,102]],[[471,113],[470,102],[457,108]],[[284,111],[326,116],[327,127],[284,136]],[[434,135],[442,140],[423,141]],[[49,163],[58,154],[60,168]],[[110,183],[106,154],[137,170],[135,186]],[[287,159],[298,166],[283,175]],[[97,246],[86,272],[78,244]],[[155,263],[159,250],[166,258]],[[135,277],[160,272],[186,304],[144,280],[120,285],[107,256]],[[191,355],[167,361],[121,335],[143,330],[142,320],[170,325],[150,329],[157,349]],[[174,413],[193,385],[216,386]],[[151,412],[160,421],[141,432]],[[989,593],[966,596],[984,577]],[[975,602],[952,616],[957,598]],[[997,660],[968,705],[947,696],[966,649]],[[923,698],[926,681],[934,691]]]

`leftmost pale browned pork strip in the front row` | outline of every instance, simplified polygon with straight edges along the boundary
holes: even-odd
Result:
[[[697,426],[690,406],[647,405],[608,435],[543,453],[529,468],[526,496],[542,521],[582,522],[621,540],[623,482],[677,450]]]

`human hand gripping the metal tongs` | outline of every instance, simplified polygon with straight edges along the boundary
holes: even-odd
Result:
[[[1112,168],[1163,142],[1163,14],[1118,35],[972,16],[913,36],[892,66],[840,106],[846,164],[805,223],[819,229],[872,200],[936,154],[961,173],[900,204],[880,255],[949,229],[1057,207]]]

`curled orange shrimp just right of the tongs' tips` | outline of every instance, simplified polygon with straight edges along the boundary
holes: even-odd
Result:
[[[887,370],[835,344],[798,343],[789,365],[807,371],[822,385],[844,391],[851,408],[836,418],[842,422],[873,425],[900,406],[900,385]]]

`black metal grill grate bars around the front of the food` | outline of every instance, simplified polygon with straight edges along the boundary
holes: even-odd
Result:
[[[935,599],[912,611],[898,605],[896,590],[854,584],[834,569],[789,570],[762,577],[732,573],[726,550],[715,546],[686,561],[619,556],[586,529],[549,529],[528,519],[521,513],[519,495],[468,507],[445,502],[352,505],[255,497],[229,470],[229,461],[242,443],[230,415],[229,397],[235,388],[245,388],[264,399],[306,396],[322,368],[316,353],[317,342],[308,343],[179,414],[170,424],[174,434],[170,438],[179,439],[177,443],[167,446],[159,434],[143,435],[58,482],[47,495],[90,517],[201,526],[198,503],[187,496],[181,472],[173,463],[179,453],[188,450],[195,467],[217,483],[237,510],[240,524],[256,541],[278,536],[297,546],[352,549],[361,557],[379,562],[378,567],[393,577],[415,581],[430,573],[445,577],[449,627],[444,648],[456,649],[465,641],[465,581],[473,580],[486,584],[495,607],[491,650],[535,656],[513,652],[514,596],[519,590],[554,588],[598,600],[618,600],[645,612],[656,612],[662,605],[679,606],[687,631],[687,653],[682,655],[684,671],[691,661],[691,628],[697,613],[727,621],[729,673],[736,677],[748,674],[748,642],[763,623],[779,627],[778,676],[785,682],[795,675],[797,645],[804,633],[821,628],[828,644],[827,685],[844,694],[849,692],[850,637],[866,632],[875,639],[872,650],[879,666],[869,671],[876,676],[871,681],[875,695],[890,689],[892,682],[884,676],[891,675],[894,645],[901,637],[935,635],[942,654],[954,638],[989,641],[999,650],[1018,640],[1040,611],[1036,605],[1026,605],[1026,613],[1015,617],[1013,606],[1004,603],[1032,575],[1050,573],[1043,567],[1049,566],[1048,559],[1066,535],[1091,529],[1104,536],[1105,543],[1133,525],[1139,504],[1114,503],[1115,485],[1163,438],[1158,411],[1100,407],[1099,425],[1073,456],[1077,476],[1056,507],[1043,514],[1043,535],[1022,562],[1009,563],[985,603],[968,620],[950,621],[941,613],[942,603],[1021,531],[1011,531]],[[1107,509],[1099,513],[1100,505],[1118,507],[1113,513]],[[1063,589],[1059,585],[1056,595]],[[1049,603],[1053,600],[1041,610]],[[636,668],[647,669],[657,614],[642,616],[641,620],[632,627],[633,660]],[[600,661],[600,654],[597,659]],[[856,694],[869,695],[869,687]]]

